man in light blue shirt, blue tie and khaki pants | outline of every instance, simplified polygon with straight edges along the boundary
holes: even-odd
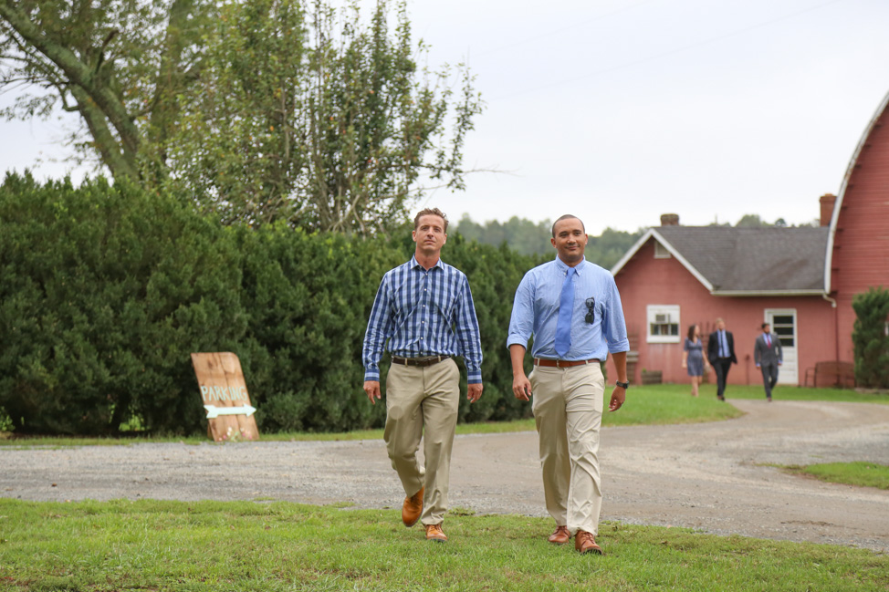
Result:
[[[630,349],[621,296],[614,278],[583,256],[587,234],[576,216],[552,226],[554,261],[530,270],[516,290],[507,347],[513,393],[534,396],[540,464],[547,510],[556,521],[549,542],[573,535],[580,553],[598,553],[601,514],[599,431],[605,380],[601,362],[611,353],[617,369],[609,410],[626,398]],[[525,375],[528,339],[534,337],[534,370]]]

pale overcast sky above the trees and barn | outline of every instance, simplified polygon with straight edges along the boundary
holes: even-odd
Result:
[[[467,59],[476,173],[456,222],[574,213],[587,231],[745,213],[807,223],[889,92],[885,0],[415,0],[430,65]],[[6,98],[8,99],[8,97]],[[56,175],[63,123],[0,122],[4,169]],[[68,166],[70,168],[70,166]],[[80,174],[75,170],[75,177]]]

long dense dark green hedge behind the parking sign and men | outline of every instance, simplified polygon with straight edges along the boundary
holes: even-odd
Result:
[[[234,351],[261,431],[379,427],[361,343],[382,274],[411,253],[410,227],[393,240],[225,227],[126,183],[7,175],[0,415],[22,433],[114,433],[132,418],[203,431],[189,354]],[[485,395],[462,400],[460,420],[528,416],[504,344],[512,295],[538,261],[456,234],[443,258],[469,276],[485,354]]]

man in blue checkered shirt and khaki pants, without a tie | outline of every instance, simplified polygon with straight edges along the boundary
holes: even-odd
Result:
[[[416,250],[411,261],[382,277],[364,336],[364,391],[381,398],[380,359],[388,341],[392,366],[386,376],[383,438],[404,488],[402,521],[420,519],[426,539],[444,543],[451,448],[460,399],[463,356],[468,396],[482,396],[482,347],[469,282],[441,260],[447,216],[425,209],[413,219]],[[425,430],[425,434],[424,434]],[[425,466],[417,459],[424,440]],[[424,500],[425,498],[425,500]]]

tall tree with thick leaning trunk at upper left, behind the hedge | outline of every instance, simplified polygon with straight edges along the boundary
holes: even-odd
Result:
[[[201,0],[0,0],[0,90],[37,89],[4,115],[60,105],[83,124],[71,139],[79,156],[98,156],[115,178],[163,171],[212,12]]]

